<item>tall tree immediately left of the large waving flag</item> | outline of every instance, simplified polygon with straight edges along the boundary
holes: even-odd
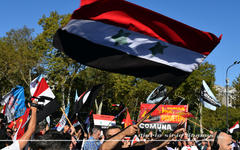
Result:
[[[56,11],[51,12],[49,17],[43,15],[38,22],[43,28],[43,32],[34,40],[35,49],[44,52],[42,66],[45,68],[49,84],[54,87],[57,99],[61,100],[63,107],[65,107],[65,101],[70,100],[74,79],[85,68],[63,52],[55,49],[52,44],[57,29],[66,25],[69,19],[70,15],[59,15]]]

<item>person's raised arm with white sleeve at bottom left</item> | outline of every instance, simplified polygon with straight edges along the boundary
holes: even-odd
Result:
[[[23,136],[19,139],[14,141],[11,145],[3,148],[2,150],[22,150],[28,143],[28,140],[31,138],[32,134],[36,129],[36,121],[37,121],[37,102],[33,101],[30,108],[31,108],[31,119],[28,124],[27,131],[23,134]],[[1,147],[2,148],[2,147]]]

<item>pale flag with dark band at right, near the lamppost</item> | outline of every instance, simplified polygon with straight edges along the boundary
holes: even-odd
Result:
[[[204,107],[213,111],[215,111],[217,107],[221,106],[220,102],[216,99],[211,89],[208,87],[207,83],[204,80],[202,81],[200,101],[203,103]]]

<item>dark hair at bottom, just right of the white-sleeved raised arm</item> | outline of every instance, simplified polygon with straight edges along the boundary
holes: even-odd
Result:
[[[55,130],[50,130],[46,132],[46,134],[37,136],[32,141],[30,147],[32,149],[43,149],[43,150],[66,150],[69,149],[69,145],[71,143],[71,136],[69,134],[65,134],[62,132],[58,132]],[[54,141],[55,140],[55,141]],[[64,141],[68,140],[68,141]]]

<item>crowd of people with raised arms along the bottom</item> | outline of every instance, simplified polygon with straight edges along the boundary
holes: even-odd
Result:
[[[35,104],[37,102],[34,102]],[[28,128],[18,140],[14,139],[16,130],[6,128],[4,118],[1,122],[0,148],[3,150],[239,150],[240,139],[233,140],[225,132],[210,132],[208,137],[189,136],[185,129],[179,125],[173,132],[154,137],[150,131],[144,136],[137,125],[121,129],[111,126],[104,132],[97,127],[84,131],[82,126],[65,125],[61,132],[51,129],[48,125],[44,128],[36,123],[37,108],[31,108],[31,119]],[[138,140],[132,142],[133,136]],[[171,136],[166,136],[171,135]]]

